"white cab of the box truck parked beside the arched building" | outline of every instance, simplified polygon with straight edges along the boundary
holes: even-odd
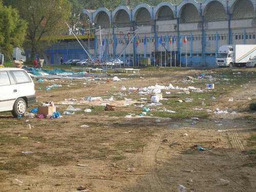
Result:
[[[234,47],[221,46],[216,57],[216,66],[219,67],[233,67],[234,63]]]

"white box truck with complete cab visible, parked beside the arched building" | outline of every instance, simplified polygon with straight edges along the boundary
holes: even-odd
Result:
[[[216,66],[245,67],[246,62],[256,55],[256,45],[225,45],[219,48]]]

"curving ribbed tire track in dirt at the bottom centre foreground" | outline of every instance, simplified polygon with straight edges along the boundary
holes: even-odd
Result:
[[[137,158],[138,164],[151,174],[139,177],[134,191],[165,191],[162,188],[162,182],[157,173],[157,152],[159,150],[160,138],[161,136],[158,136],[152,140],[151,144],[144,148]]]

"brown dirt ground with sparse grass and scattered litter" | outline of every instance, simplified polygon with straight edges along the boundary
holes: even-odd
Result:
[[[138,109],[133,104],[122,106],[127,103],[124,97],[133,98],[137,105],[145,102],[135,97],[150,100],[150,95],[129,94],[129,87],[172,83],[179,87],[201,87],[205,92],[205,83],[203,86],[196,81],[186,83],[184,77],[211,72],[218,74],[219,69],[114,74],[105,78],[117,75],[124,79],[110,83],[106,83],[106,79],[35,82],[36,89],[42,87],[36,91],[38,103],[54,101],[61,114],[68,106],[62,102],[72,102],[65,100],[68,98],[113,96],[119,102],[105,101],[114,103],[116,110],[104,111],[103,106],[97,106],[102,102],[78,104],[74,101],[74,108],[82,108],[82,112],[57,119],[13,118],[10,113],[0,114],[0,191],[178,191],[178,184],[184,185],[187,191],[197,192],[255,191],[256,144],[249,138],[256,135],[256,111],[249,110],[248,106],[256,101],[256,78],[248,74],[255,74],[256,69],[225,70],[226,74],[246,74],[243,84],[230,83],[225,95],[203,106],[207,116],[200,116],[194,125],[186,121],[195,117],[196,111],[192,109],[192,115],[183,117],[172,117],[170,113],[169,117],[124,118]],[[82,84],[84,82],[86,84]],[[53,83],[62,87],[45,91],[45,87]],[[69,86],[70,83],[75,85]],[[222,86],[215,83],[218,88]],[[127,90],[120,91],[121,86]],[[165,91],[170,91],[170,96],[177,92],[162,90]],[[125,96],[119,98],[119,92]],[[167,95],[163,97],[169,100]],[[233,102],[227,101],[230,97]],[[172,105],[168,103],[169,109]],[[202,108],[202,105],[196,107]],[[99,111],[88,115],[83,112],[87,108]],[[222,111],[228,108],[228,114],[207,112],[217,108]],[[236,113],[231,114],[232,111]],[[28,123],[32,129],[26,127]],[[89,127],[81,127],[83,124]],[[207,150],[199,151],[198,146]],[[22,154],[24,151],[33,154]],[[128,172],[129,167],[135,168],[135,172]],[[23,184],[13,185],[15,178]],[[228,180],[229,185],[221,185],[220,179]]]

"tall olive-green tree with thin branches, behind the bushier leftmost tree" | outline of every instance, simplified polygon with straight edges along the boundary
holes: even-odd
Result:
[[[71,10],[68,0],[6,0],[5,3],[17,8],[20,17],[28,22],[26,38],[32,58],[55,41],[53,36],[67,32],[65,22]]]

